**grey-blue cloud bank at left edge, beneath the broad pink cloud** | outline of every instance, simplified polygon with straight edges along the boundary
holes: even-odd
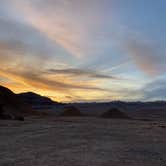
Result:
[[[64,63],[68,54],[34,27],[12,18],[0,17],[0,65],[44,68]],[[70,58],[72,60],[72,58]],[[70,62],[70,60],[69,60]]]

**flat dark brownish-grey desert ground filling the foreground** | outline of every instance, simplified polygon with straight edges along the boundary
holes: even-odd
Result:
[[[0,166],[166,166],[166,123],[71,117],[1,120]]]

